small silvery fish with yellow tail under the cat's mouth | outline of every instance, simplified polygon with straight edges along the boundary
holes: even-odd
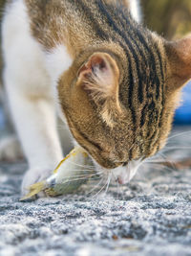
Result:
[[[29,188],[29,194],[20,200],[32,198],[41,191],[50,197],[70,194],[95,175],[96,171],[87,152],[81,147],[75,147],[55,168],[53,175],[34,183]]]

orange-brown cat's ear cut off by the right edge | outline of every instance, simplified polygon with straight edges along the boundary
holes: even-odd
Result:
[[[169,60],[172,89],[179,89],[191,79],[191,35],[177,41],[165,42],[166,55]]]

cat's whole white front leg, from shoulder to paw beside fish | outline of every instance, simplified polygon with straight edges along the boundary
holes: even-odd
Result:
[[[62,159],[53,88],[44,54],[32,38],[24,1],[8,6],[2,23],[4,84],[11,116],[29,163],[22,193],[44,179]]]

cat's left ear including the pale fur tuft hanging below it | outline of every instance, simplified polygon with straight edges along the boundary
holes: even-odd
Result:
[[[110,125],[120,111],[118,83],[117,61],[107,53],[93,54],[78,71],[77,84],[100,107],[102,118]]]

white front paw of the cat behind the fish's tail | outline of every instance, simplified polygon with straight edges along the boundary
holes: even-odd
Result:
[[[24,175],[22,184],[21,184],[21,195],[22,197],[26,196],[29,193],[30,186],[36,182],[40,182],[46,179],[48,176],[53,174],[53,170],[46,168],[34,168],[27,171]],[[40,193],[39,197],[44,197],[44,193]]]

